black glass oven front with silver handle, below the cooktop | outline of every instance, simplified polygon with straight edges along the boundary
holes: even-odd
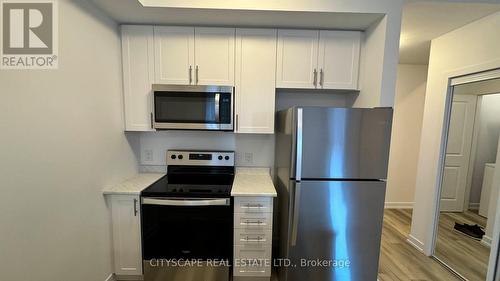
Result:
[[[231,198],[142,198],[141,206],[145,281],[228,280]]]

